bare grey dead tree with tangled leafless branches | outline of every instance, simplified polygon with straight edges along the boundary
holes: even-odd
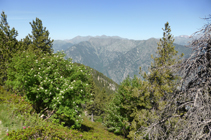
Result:
[[[211,24],[192,35],[191,56],[180,67],[181,89],[168,98],[164,110],[134,139],[211,139]]]

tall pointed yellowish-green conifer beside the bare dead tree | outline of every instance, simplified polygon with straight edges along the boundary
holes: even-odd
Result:
[[[158,104],[161,105],[164,103],[160,99],[167,98],[177,87],[180,78],[173,71],[172,67],[181,63],[180,59],[184,55],[183,53],[180,56],[177,55],[178,51],[175,50],[175,46],[173,45],[174,39],[171,35],[171,28],[168,22],[162,30],[163,37],[157,44],[157,55],[156,57],[151,56],[154,63],[151,63],[149,69],[150,74],[143,74],[144,79],[150,83],[151,101],[154,103],[156,109],[159,107]]]

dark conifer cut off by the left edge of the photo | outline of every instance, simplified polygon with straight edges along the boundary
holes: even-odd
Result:
[[[7,15],[3,11],[0,21],[0,85],[4,85],[7,79],[6,65],[18,49],[17,36],[18,32],[15,28],[10,29],[7,22]]]

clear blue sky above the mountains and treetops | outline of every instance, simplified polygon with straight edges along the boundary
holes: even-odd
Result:
[[[24,38],[36,17],[50,37],[120,36],[142,40],[162,37],[168,21],[172,34],[191,35],[211,14],[211,0],[0,0],[9,25]]]

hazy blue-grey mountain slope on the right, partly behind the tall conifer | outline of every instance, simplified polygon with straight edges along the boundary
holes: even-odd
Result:
[[[116,58],[110,65],[104,69],[103,73],[109,78],[112,78],[117,83],[124,80],[127,75],[133,77],[139,75],[139,67],[141,66],[143,71],[148,71],[148,67],[152,62],[151,54],[155,56],[157,51],[157,42],[156,39],[149,39],[139,44],[139,46],[131,49],[125,55],[121,55]],[[182,45],[174,44],[175,49],[178,51],[178,54],[182,52],[187,57],[190,54],[190,49],[185,48]]]

